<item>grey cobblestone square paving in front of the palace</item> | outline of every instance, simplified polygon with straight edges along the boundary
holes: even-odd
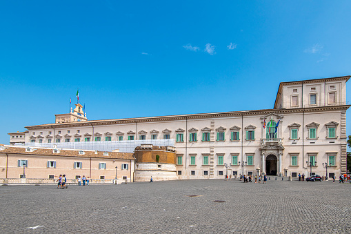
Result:
[[[222,179],[0,186],[0,233],[351,233],[350,190]]]

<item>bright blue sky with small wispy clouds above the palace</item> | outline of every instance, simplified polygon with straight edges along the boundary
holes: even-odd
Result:
[[[68,113],[77,88],[88,119],[273,108],[281,81],[351,75],[350,9],[351,1],[0,1],[0,142]]]

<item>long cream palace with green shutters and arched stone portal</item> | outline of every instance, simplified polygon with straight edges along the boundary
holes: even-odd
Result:
[[[54,124],[27,126],[24,142],[173,139],[178,179],[223,178],[227,173],[295,177],[311,170],[325,175],[326,165],[331,177],[346,173],[348,79],[282,82],[274,108],[266,110],[92,121],[77,104],[69,115],[57,115]]]

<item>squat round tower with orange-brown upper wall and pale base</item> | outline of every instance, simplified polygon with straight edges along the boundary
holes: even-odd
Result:
[[[174,146],[141,145],[135,148],[134,181],[150,182],[174,180],[177,177],[176,150]]]

